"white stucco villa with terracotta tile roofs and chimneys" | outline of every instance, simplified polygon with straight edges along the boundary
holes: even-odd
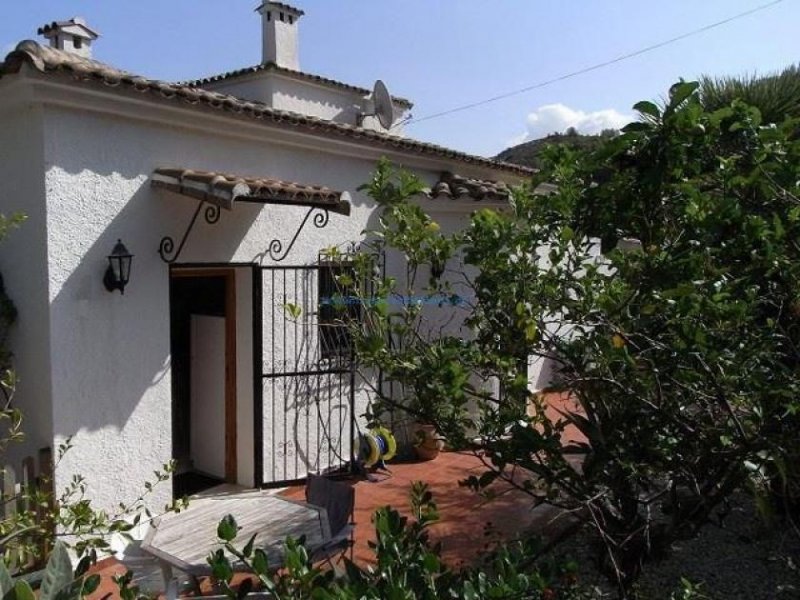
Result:
[[[386,157],[453,228],[530,176],[405,137],[409,101],[302,71],[303,12],[258,12],[261,63],[201,81],[103,63],[79,18],[0,64],[0,212],[27,215],[0,246],[21,452],[71,437],[56,489],[81,473],[99,507],[171,459],[155,504],[182,477],[267,486],[346,463],[369,395],[321,327],[319,256],[374,222],[358,187]]]

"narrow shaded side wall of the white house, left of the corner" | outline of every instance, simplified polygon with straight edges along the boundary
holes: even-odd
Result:
[[[15,89],[0,81],[0,98]],[[27,220],[0,243],[0,273],[16,305],[9,343],[18,374],[14,404],[24,414],[26,439],[9,447],[5,460],[18,463],[52,446],[50,321],[41,111],[29,104],[0,104],[0,212],[22,212]]]

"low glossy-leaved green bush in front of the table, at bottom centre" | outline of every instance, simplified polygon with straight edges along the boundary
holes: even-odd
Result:
[[[223,547],[208,559],[214,578],[232,600],[243,598],[256,586],[247,580],[231,587],[234,565],[255,576],[258,587],[276,600],[479,600],[525,598],[528,600],[589,600],[592,590],[581,590],[570,565],[531,567],[537,550],[532,544],[500,548],[481,568],[454,571],[440,559],[440,548],[431,545],[428,530],[438,511],[428,487],[414,483],[412,518],[385,507],[373,516],[376,541],[373,564],[359,567],[344,559],[344,572],[315,566],[302,540],[288,539],[283,565],[270,567],[266,554],[254,548],[251,538],[243,548],[234,544],[237,533],[232,516],[223,519],[218,535]],[[233,560],[231,559],[233,558]]]

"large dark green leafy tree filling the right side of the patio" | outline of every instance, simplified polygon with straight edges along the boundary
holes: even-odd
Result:
[[[375,234],[408,271],[370,282],[378,300],[352,327],[362,366],[403,390],[375,415],[405,409],[477,448],[478,489],[502,478],[575,509],[622,595],[737,488],[796,489],[800,409],[797,122],[764,125],[740,101],[708,112],[686,82],[635,108],[594,153],[546,152],[534,185],[555,191],[519,189],[452,235],[413,202],[421,184],[382,164]],[[386,309],[456,291],[460,331],[424,302]],[[578,410],[553,418],[531,396],[530,357],[558,365],[551,391]],[[568,426],[585,440],[563,444]]]

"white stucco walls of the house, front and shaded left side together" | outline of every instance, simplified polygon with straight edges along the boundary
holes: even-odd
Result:
[[[14,78],[0,85],[3,81]],[[56,486],[83,474],[96,505],[113,509],[136,498],[172,454],[169,268],[157,249],[165,235],[180,241],[197,201],[153,189],[153,170],[206,169],[349,192],[349,217],[331,214],[326,228],[309,223],[300,234],[285,264],[303,265],[315,263],[322,248],[358,240],[375,225],[374,204],[357,188],[369,180],[380,153],[166,101],[122,101],[113,89],[74,87],[42,84],[36,89],[44,103],[40,109],[0,113],[3,151],[14,149],[0,161],[6,175],[0,190],[8,191],[0,201],[4,210],[19,207],[31,217],[24,238],[12,237],[0,247],[0,268],[12,296],[24,295],[29,307],[21,310],[17,331],[23,335],[15,341],[21,386],[28,386],[21,398],[33,408],[36,443],[56,446],[73,437]],[[391,153],[390,158],[398,159]],[[406,158],[428,183],[443,170],[459,170],[447,159],[400,157]],[[480,177],[485,171],[462,172]],[[461,219],[473,208],[464,204],[448,218]],[[270,264],[265,252],[270,241],[287,244],[305,214],[304,208],[241,203],[222,211],[216,225],[201,216],[180,263]],[[109,293],[102,284],[117,239],[135,255],[124,295]],[[240,316],[250,314],[246,271],[237,269]],[[264,298],[265,306],[274,300]],[[249,335],[252,322],[239,319],[237,444],[239,481],[245,485],[252,483],[256,450],[252,355],[242,350],[252,344]],[[361,414],[368,395],[357,385],[356,414]],[[272,424],[267,418],[265,410],[260,457],[265,467],[276,448],[266,435]],[[325,466],[322,460],[318,464]],[[158,487],[150,506],[163,506],[171,491],[169,485]]]

